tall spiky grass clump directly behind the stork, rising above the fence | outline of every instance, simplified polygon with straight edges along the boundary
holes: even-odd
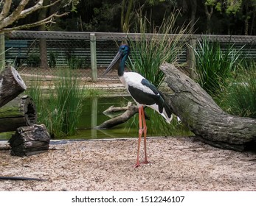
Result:
[[[164,78],[160,65],[164,62],[177,63],[177,57],[184,50],[185,43],[180,39],[187,28],[175,28],[178,15],[178,12],[171,13],[163,19],[162,25],[154,26],[148,18],[139,14],[136,28],[141,35],[135,40],[128,38],[131,46],[128,68],[142,74],[156,87],[159,87]],[[146,35],[147,32],[151,33],[150,37]]]

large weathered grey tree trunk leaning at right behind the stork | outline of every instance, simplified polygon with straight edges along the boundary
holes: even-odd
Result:
[[[173,65],[164,63],[160,68],[174,92],[165,93],[167,103],[197,138],[223,149],[256,149],[256,119],[225,113],[205,90]]]

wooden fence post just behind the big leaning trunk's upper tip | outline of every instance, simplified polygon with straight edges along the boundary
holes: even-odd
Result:
[[[187,63],[188,63],[188,67],[190,68],[191,79],[196,79],[195,50],[196,50],[196,39],[192,37],[190,38],[189,45],[187,46]]]

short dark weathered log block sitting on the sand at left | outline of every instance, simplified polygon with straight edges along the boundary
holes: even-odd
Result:
[[[47,152],[49,141],[50,135],[44,124],[19,127],[9,140],[11,154],[22,157]]]

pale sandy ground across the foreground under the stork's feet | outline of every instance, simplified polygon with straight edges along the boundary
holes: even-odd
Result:
[[[148,138],[151,163],[134,168],[136,144],[134,138],[51,143],[49,152],[30,157],[0,150],[0,176],[47,179],[0,180],[0,191],[256,191],[255,153],[194,138]]]

